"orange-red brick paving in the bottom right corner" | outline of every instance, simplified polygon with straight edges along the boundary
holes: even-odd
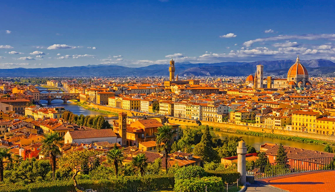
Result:
[[[335,170],[297,173],[258,181],[290,192],[327,192],[335,189]]]

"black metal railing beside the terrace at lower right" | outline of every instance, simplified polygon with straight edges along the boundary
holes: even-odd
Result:
[[[320,157],[248,166],[246,167],[246,172],[247,176],[254,176],[255,179],[260,179],[290,173],[334,169],[335,157]]]

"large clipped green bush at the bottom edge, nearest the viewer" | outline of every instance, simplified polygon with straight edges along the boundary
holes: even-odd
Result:
[[[175,191],[183,192],[221,192],[223,191],[223,182],[220,177],[202,177],[191,179],[180,179],[176,181]]]

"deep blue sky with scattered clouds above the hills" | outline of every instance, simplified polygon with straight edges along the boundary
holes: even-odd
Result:
[[[1,1],[0,68],[335,61],[333,1]]]

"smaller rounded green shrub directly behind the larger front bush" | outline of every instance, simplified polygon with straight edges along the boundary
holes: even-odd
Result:
[[[175,173],[175,181],[180,179],[200,178],[206,176],[205,170],[199,166],[179,168]]]

